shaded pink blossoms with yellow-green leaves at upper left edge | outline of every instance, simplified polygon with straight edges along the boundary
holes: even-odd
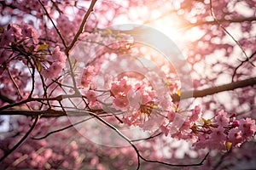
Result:
[[[67,56],[59,46],[52,53],[47,51],[48,44],[39,43],[38,31],[26,23],[9,24],[1,27],[0,35],[0,71],[7,68],[10,61],[21,60],[24,65],[34,66],[45,78],[55,78],[61,75],[66,65]],[[29,63],[29,64],[28,64]],[[3,66],[5,65],[5,68]]]

